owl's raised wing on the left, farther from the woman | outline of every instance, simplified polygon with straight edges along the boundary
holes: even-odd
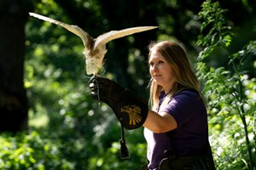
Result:
[[[62,26],[64,28],[66,28],[68,31],[73,32],[75,35],[79,36],[82,39],[82,41],[84,43],[84,47],[90,49],[93,39],[92,39],[92,37],[90,37],[90,35],[86,31],[81,29],[79,26],[68,25],[59,20],[54,20],[54,19],[48,18],[46,16],[43,16],[41,14],[35,14],[35,13],[29,13],[29,14],[35,18],[48,21],[48,22],[53,23],[58,26]]]

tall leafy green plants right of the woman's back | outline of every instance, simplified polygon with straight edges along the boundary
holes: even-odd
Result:
[[[218,169],[255,169],[255,77],[249,77],[242,65],[255,55],[256,41],[231,54],[231,27],[225,19],[226,10],[219,3],[206,1],[199,13],[203,23],[198,44],[204,46],[199,54],[198,75],[205,82],[204,93],[209,100],[212,119],[212,145]],[[204,63],[212,52],[223,48],[228,54],[229,69],[213,68]]]

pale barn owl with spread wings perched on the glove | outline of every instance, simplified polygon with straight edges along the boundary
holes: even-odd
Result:
[[[104,55],[107,53],[107,49],[106,49],[107,42],[113,39],[117,39],[119,37],[125,37],[137,32],[148,31],[148,30],[157,28],[157,26],[138,26],[138,27],[127,28],[120,31],[108,31],[107,33],[104,33],[95,39],[93,37],[90,37],[90,35],[86,31],[82,30],[79,26],[68,25],[61,21],[50,19],[40,14],[35,14],[35,13],[29,13],[29,14],[40,20],[49,21],[51,23],[54,23],[55,25],[62,26],[66,28],[68,31],[71,31],[77,36],[79,36],[84,43],[83,54],[84,54],[85,65],[86,65],[86,73],[88,75],[93,74],[93,76],[96,76],[98,70],[103,65],[103,58],[104,58]]]

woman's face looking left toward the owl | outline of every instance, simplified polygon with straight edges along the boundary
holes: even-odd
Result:
[[[149,56],[148,64],[149,72],[154,82],[164,88],[165,92],[168,93],[175,82],[174,72],[171,65],[154,49]]]

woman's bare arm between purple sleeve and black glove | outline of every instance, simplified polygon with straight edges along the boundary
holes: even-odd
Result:
[[[156,113],[148,110],[148,116],[143,124],[154,133],[166,133],[177,127],[177,122],[170,114],[166,112]]]

